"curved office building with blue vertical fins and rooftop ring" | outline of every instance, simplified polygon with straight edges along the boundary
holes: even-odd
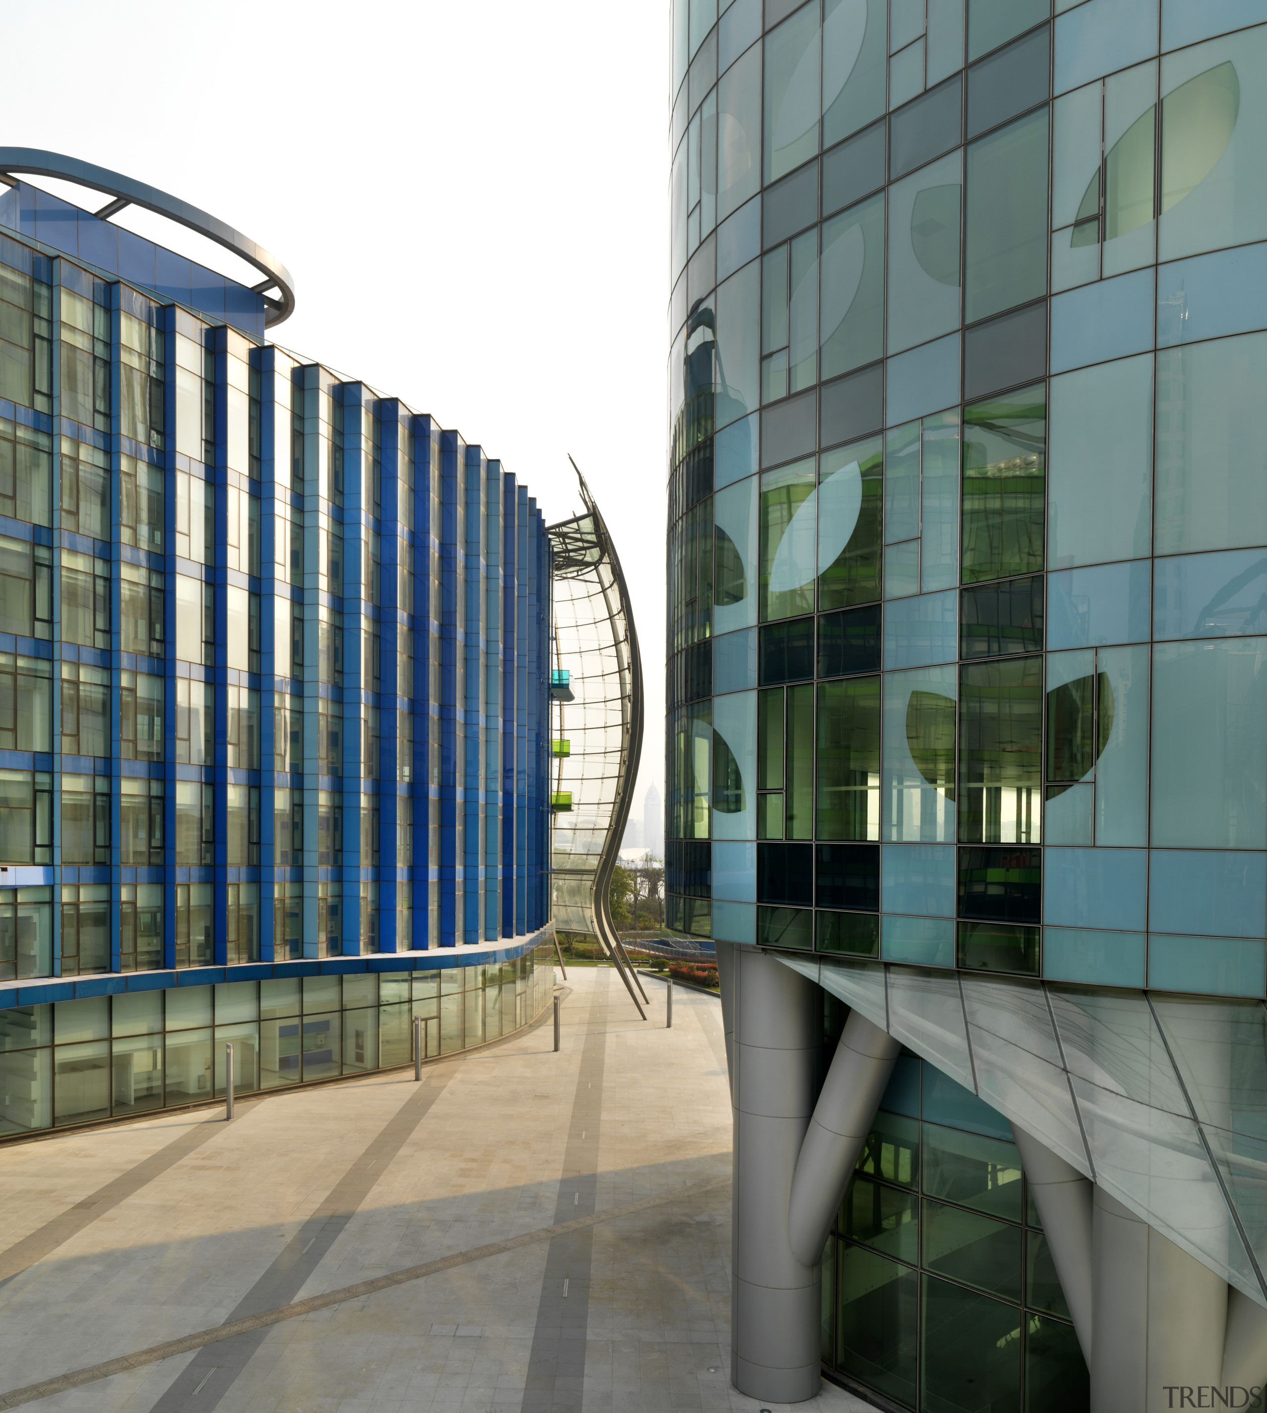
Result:
[[[535,500],[270,342],[290,278],[236,232],[72,158],[13,171],[119,195],[0,187],[0,1133],[210,1096],[223,1026],[257,1088],[403,1063],[401,1006],[428,1053],[527,1023],[552,975]],[[133,199],[264,283],[113,225]]]

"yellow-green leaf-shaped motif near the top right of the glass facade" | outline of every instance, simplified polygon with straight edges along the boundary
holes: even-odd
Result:
[[[1230,61],[1181,83],[1161,102],[1161,209],[1192,192],[1223,155],[1240,110],[1240,82]],[[1150,105],[1105,157],[1105,240],[1153,220],[1155,203],[1157,105]],[[1071,246],[1100,239],[1100,172],[1086,184]]]

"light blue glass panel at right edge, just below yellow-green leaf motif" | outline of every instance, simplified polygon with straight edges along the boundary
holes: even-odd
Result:
[[[1267,243],[1158,268],[1158,348],[1254,329],[1267,329]]]

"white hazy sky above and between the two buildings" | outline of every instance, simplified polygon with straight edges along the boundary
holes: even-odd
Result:
[[[667,0],[42,0],[4,24],[6,143],[257,240],[295,278],[280,343],[458,428],[547,521],[581,509],[575,456],[641,639],[640,811],[664,774]]]

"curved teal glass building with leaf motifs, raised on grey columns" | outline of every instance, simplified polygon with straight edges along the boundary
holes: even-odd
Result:
[[[901,1046],[821,1267],[880,1403],[1267,1382],[1264,21],[674,4],[668,916],[736,1046],[763,958]]]

